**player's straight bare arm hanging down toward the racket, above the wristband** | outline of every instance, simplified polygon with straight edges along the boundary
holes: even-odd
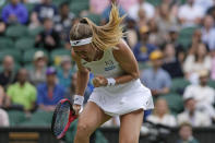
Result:
[[[76,62],[76,65],[77,65],[77,79],[76,79],[75,94],[84,96],[84,92],[88,83],[89,71],[82,65],[81,58],[77,55],[75,55],[73,50],[72,50],[72,58]]]

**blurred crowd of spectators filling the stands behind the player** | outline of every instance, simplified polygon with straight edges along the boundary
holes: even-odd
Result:
[[[52,111],[59,99],[71,98],[76,79],[71,57],[62,56],[60,65],[55,67],[39,48],[48,52],[59,47],[70,49],[71,26],[80,17],[91,14],[99,17],[97,24],[106,24],[110,2],[116,0],[89,0],[88,10],[79,13],[70,8],[73,1],[63,0],[56,5],[56,0],[10,0],[1,9],[0,38],[5,37],[7,28],[15,24],[25,25],[28,29],[43,27],[43,31],[34,38],[38,51],[32,57],[32,70],[21,68],[15,72],[13,57],[3,58],[0,107],[22,109],[26,114]],[[156,1],[158,3],[118,0],[120,15],[127,14],[124,39],[140,64],[141,81],[152,90],[155,98],[155,110],[147,120],[169,127],[183,122],[208,127],[215,121],[215,91],[207,84],[215,80],[215,1]],[[27,4],[34,5],[32,11],[27,10]],[[172,115],[168,99],[163,96],[171,96],[176,79],[183,79],[189,85],[174,93],[181,98],[183,110]],[[86,96],[92,90],[89,82]],[[0,118],[4,120],[0,120],[0,124],[9,124],[3,109],[0,109]],[[118,124],[117,119],[112,122],[110,124]]]

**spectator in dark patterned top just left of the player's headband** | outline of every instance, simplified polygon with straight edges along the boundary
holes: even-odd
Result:
[[[60,4],[59,15],[55,16],[55,29],[60,34],[64,41],[69,41],[69,33],[72,26],[74,14],[70,12],[69,3],[63,2]]]

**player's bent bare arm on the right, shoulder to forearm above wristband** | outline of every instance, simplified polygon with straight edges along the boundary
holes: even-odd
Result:
[[[115,59],[119,62],[124,74],[115,78],[116,84],[122,84],[140,78],[138,61],[127,43],[121,39],[112,50]]]

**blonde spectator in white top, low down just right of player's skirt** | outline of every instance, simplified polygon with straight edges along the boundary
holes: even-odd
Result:
[[[169,114],[167,102],[164,98],[158,98],[156,100],[154,112],[153,115],[150,115],[146,120],[155,124],[163,124],[167,127],[177,126],[176,118]]]

